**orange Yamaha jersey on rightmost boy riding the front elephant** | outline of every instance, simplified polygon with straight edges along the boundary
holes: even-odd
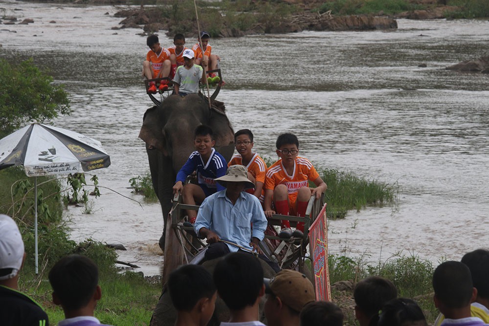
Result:
[[[265,189],[274,190],[279,184],[285,184],[289,191],[289,198],[295,200],[299,188],[308,187],[308,180],[314,181],[319,177],[312,163],[303,157],[297,156],[295,159],[294,172],[287,174],[282,160],[273,163],[267,170],[265,177]]]

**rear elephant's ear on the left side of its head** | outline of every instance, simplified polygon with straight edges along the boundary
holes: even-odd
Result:
[[[158,107],[147,109],[143,117],[143,125],[139,131],[139,138],[146,143],[148,150],[155,150],[162,152],[163,155],[168,156],[166,149],[166,139],[163,132],[162,124],[159,118]]]

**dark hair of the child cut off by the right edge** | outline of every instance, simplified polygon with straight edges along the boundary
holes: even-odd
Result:
[[[477,296],[489,299],[489,251],[477,249],[462,257],[472,275],[473,286],[477,289]]]

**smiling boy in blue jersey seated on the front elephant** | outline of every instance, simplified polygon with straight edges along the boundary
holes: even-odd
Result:
[[[215,143],[212,129],[209,126],[200,125],[195,129],[194,145],[196,151],[190,154],[187,162],[178,171],[177,181],[173,186],[174,195],[179,192],[182,193],[183,203],[195,205],[196,202],[201,203],[205,197],[225,189],[214,181],[215,178],[226,174],[227,168],[225,158],[214,149]],[[183,182],[194,171],[197,172],[198,185],[188,183],[184,187]],[[187,210],[187,216],[189,222],[194,224],[197,212]]]

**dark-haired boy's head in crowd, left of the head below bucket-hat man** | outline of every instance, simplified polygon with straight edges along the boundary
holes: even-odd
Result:
[[[183,265],[170,273],[168,290],[177,309],[175,326],[205,326],[214,313],[217,291],[201,265]]]

